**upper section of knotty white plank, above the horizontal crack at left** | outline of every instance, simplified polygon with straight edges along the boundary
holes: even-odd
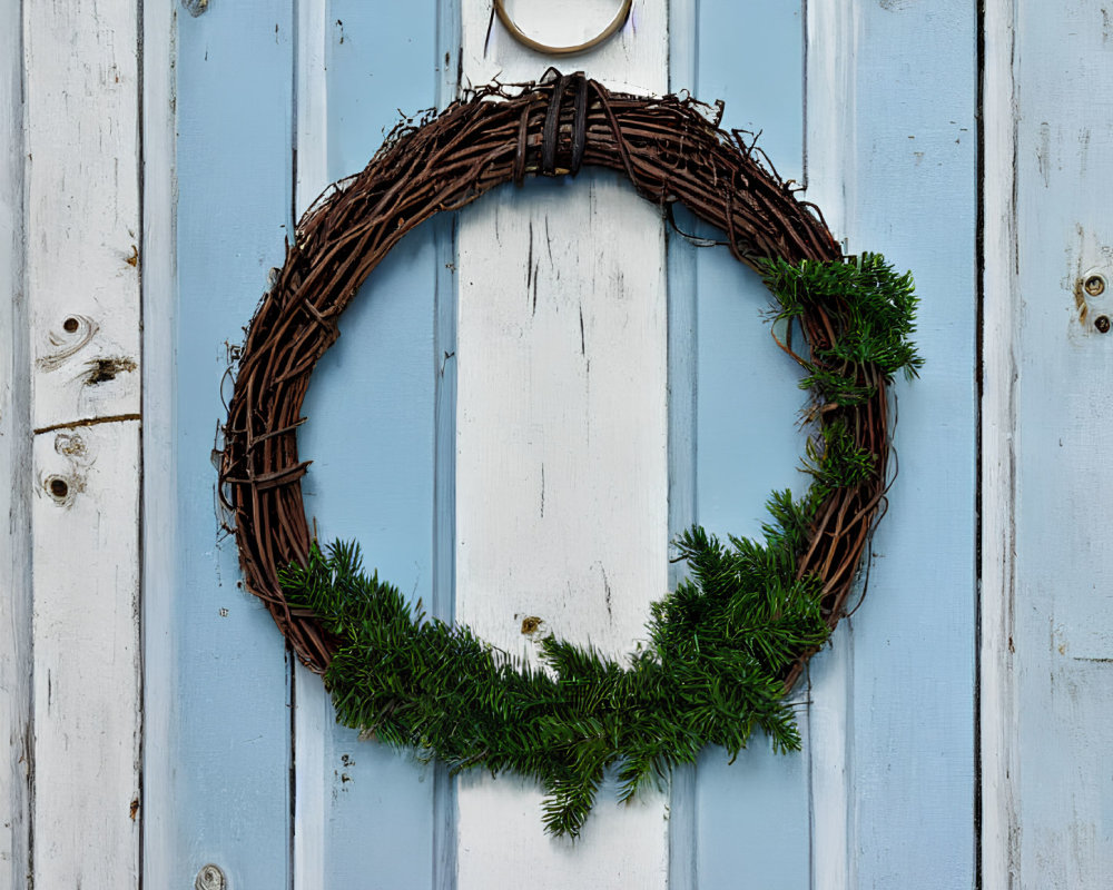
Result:
[[[121,0],[23,9],[38,429],[139,409],[138,36]]]

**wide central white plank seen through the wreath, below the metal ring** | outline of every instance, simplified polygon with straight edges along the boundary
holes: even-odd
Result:
[[[561,42],[595,7],[510,9]],[[463,4],[464,83],[540,77],[552,59],[498,22],[489,34],[489,16]],[[664,8],[636,3],[618,38],[560,65],[660,92],[667,49]],[[515,655],[531,656],[522,621],[538,616],[541,633],[621,656],[668,584],[660,215],[607,176],[529,184],[462,215],[457,270],[456,619]],[[514,778],[461,781],[462,890],[666,886],[663,797],[617,808],[604,789],[574,847],[542,833],[540,804]]]

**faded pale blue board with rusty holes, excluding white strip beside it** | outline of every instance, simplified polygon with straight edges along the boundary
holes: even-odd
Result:
[[[1015,671],[1007,793],[1025,890],[1113,880],[1113,335],[1094,326],[1113,290],[1086,297],[1084,324],[1074,304],[1078,278],[1113,284],[1111,12],[1020,4],[1015,20],[1015,562],[1001,659]]]

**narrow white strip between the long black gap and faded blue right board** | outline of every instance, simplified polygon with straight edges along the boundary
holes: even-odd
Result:
[[[1016,739],[1016,95],[1014,0],[985,7],[981,749],[984,887],[1018,888]]]

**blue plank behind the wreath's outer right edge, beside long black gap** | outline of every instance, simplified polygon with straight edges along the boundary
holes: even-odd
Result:
[[[851,619],[851,873],[974,882],[975,9],[863,4],[850,250],[916,276],[918,382],[896,387],[899,476]]]

